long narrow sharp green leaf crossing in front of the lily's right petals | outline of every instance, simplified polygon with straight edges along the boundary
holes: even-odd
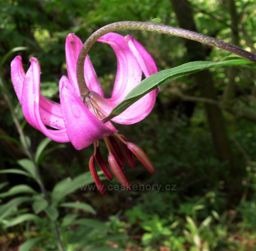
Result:
[[[159,88],[160,86],[187,74],[199,72],[213,67],[238,66],[246,64],[252,64],[252,61],[244,59],[234,59],[220,62],[196,61],[182,64],[171,69],[162,70],[144,79],[142,82],[140,82],[140,84],[138,84],[138,86],[132,89],[125,97],[124,101],[116,106],[105,120],[118,116],[119,114],[124,112],[129,106],[131,106],[133,103],[135,103],[137,100],[139,100],[152,90]]]

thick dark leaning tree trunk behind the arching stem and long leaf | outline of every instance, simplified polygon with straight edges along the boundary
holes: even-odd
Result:
[[[173,10],[176,14],[179,26],[187,30],[196,31],[196,25],[192,14],[192,9],[188,0],[171,0]],[[187,55],[190,61],[204,60],[205,52],[202,44],[192,40],[184,40],[187,48]],[[216,99],[217,93],[214,88],[212,76],[208,70],[194,74],[198,83],[198,88],[202,96]],[[216,106],[205,104],[212,140],[218,159],[227,162],[230,168],[233,166],[231,145],[226,133],[226,126],[222,111]]]

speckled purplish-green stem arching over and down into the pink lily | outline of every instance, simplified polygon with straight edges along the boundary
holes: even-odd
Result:
[[[228,52],[234,53],[238,56],[246,58],[248,60],[256,62],[256,54],[243,50],[242,48],[235,46],[233,44],[228,44],[222,40],[212,38],[197,32],[192,32],[190,30],[184,30],[181,28],[176,28],[172,26],[162,25],[162,24],[153,24],[149,22],[135,22],[135,21],[123,21],[108,24],[96,32],[94,32],[84,43],[80,54],[78,56],[77,66],[76,66],[76,76],[78,80],[78,85],[80,88],[80,93],[82,96],[87,96],[89,89],[86,86],[84,79],[84,61],[88,51],[92,45],[97,41],[98,38],[107,34],[108,32],[114,32],[116,30],[146,30],[151,32],[164,33],[168,35],[174,35],[182,38],[187,38],[203,44],[208,44],[213,47],[217,47]]]

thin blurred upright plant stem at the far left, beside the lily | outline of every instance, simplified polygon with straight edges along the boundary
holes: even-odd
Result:
[[[5,84],[4,84],[1,76],[0,76],[0,85],[4,89],[4,98],[5,98],[5,100],[6,100],[7,104],[8,104],[8,108],[9,108],[11,114],[12,114],[12,119],[13,119],[14,124],[16,126],[16,129],[17,129],[17,131],[18,131],[18,133],[20,135],[20,141],[21,141],[21,143],[23,145],[23,149],[24,149],[26,155],[28,156],[28,158],[32,161],[32,163],[34,165],[34,168],[35,168],[35,171],[36,171],[36,180],[38,182],[40,190],[41,190],[42,194],[44,195],[45,199],[47,200],[48,204],[50,205],[50,198],[49,198],[49,196],[47,194],[47,191],[45,189],[45,185],[44,185],[43,179],[42,179],[42,177],[40,175],[40,171],[39,171],[38,165],[37,165],[36,161],[34,160],[33,153],[32,153],[32,151],[31,151],[31,149],[30,149],[30,147],[29,147],[29,145],[28,145],[28,143],[26,141],[26,137],[25,137],[25,135],[23,133],[22,127],[20,126],[18,118],[17,118],[17,116],[16,116],[16,114],[14,112],[14,109],[12,107],[12,103],[11,103],[9,97],[8,97],[7,90],[5,88]],[[56,241],[57,241],[58,249],[60,251],[64,251],[63,244],[62,244],[62,241],[60,239],[60,231],[58,229],[57,223],[56,223],[55,220],[52,220],[52,223],[53,223],[53,231],[54,231],[54,235],[55,235],[55,238],[56,238]]]

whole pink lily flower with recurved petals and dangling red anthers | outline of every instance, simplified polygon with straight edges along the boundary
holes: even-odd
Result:
[[[157,68],[150,54],[131,36],[123,37],[116,33],[108,33],[98,42],[109,44],[116,53],[118,68],[111,98],[104,98],[88,56],[84,64],[84,78],[90,92],[86,97],[80,95],[76,80],[76,62],[83,44],[74,34],[69,34],[66,38],[68,78],[62,76],[60,79],[60,104],[40,94],[40,65],[36,58],[30,59],[31,65],[26,73],[21,57],[14,58],[11,63],[11,78],[24,117],[30,125],[54,141],[71,141],[78,150],[94,144],[89,167],[98,189],[104,194],[105,189],[96,172],[95,161],[108,179],[112,179],[112,173],[99,149],[98,140],[101,138],[108,148],[110,169],[127,190],[130,189],[130,184],[123,174],[122,167],[126,159],[132,167],[135,166],[133,154],[151,173],[155,172],[154,166],[140,147],[118,134],[111,122],[103,124],[101,120],[141,82],[142,72],[148,77],[156,73]],[[156,94],[157,90],[153,90],[112,121],[119,124],[134,124],[143,120],[151,112]]]

